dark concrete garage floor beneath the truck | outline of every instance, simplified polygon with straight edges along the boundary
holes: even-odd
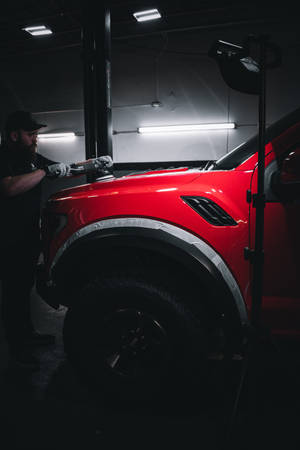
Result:
[[[0,328],[0,448],[60,449],[299,449],[298,344],[266,347],[247,371],[234,425],[232,411],[243,361],[212,362],[211,386],[197,379],[147,404],[90,392],[65,360],[65,308],[54,310],[33,292],[34,321],[56,335],[37,350],[41,369],[9,363]]]

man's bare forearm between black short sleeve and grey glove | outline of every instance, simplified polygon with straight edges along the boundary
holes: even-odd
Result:
[[[5,197],[23,194],[36,186],[46,175],[43,169],[23,175],[8,176],[0,179],[0,191]]]

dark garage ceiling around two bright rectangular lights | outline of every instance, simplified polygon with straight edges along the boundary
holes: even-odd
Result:
[[[88,1],[88,0],[86,0]],[[93,1],[89,5],[95,4]],[[296,2],[262,0],[110,0],[112,39],[196,28],[238,27],[249,23],[298,28]],[[157,7],[162,19],[138,23],[135,11]],[[34,38],[22,30],[30,25],[48,25],[53,35]],[[8,0],[1,6],[1,59],[18,54],[55,51],[81,44],[82,0]]]

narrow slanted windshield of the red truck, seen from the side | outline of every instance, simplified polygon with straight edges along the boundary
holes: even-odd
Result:
[[[267,128],[266,144],[297,122],[300,122],[300,108],[292,111]],[[218,159],[214,163],[212,170],[230,170],[238,167],[240,164],[246,161],[246,159],[248,159],[251,155],[258,151],[258,145],[259,141],[257,134],[247,142],[244,142],[243,144],[231,150],[231,152]]]

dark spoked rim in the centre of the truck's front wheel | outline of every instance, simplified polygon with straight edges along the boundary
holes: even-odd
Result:
[[[117,309],[104,325],[104,364],[128,379],[161,377],[170,360],[170,341],[164,326],[136,308]]]

